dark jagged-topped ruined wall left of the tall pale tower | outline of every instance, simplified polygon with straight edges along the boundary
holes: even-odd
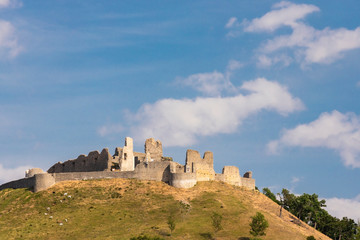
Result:
[[[92,172],[110,171],[112,156],[107,148],[101,153],[93,151],[86,155],[80,155],[77,159],[68,160],[64,163],[58,162],[49,168],[48,173],[59,172]]]

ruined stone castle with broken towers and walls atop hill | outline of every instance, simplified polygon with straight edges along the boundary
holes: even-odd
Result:
[[[222,181],[235,186],[255,189],[252,172],[243,177],[235,166],[225,166],[221,174],[214,171],[212,152],[205,152],[201,158],[195,150],[187,150],[185,165],[164,157],[160,141],[150,138],[145,141],[145,153],[133,151],[133,139],[125,138],[125,146],[117,147],[112,156],[107,148],[101,153],[90,152],[76,159],[58,162],[47,172],[39,168],[29,169],[25,178],[0,186],[5,188],[30,188],[34,192],[45,190],[57,182],[66,180],[87,180],[101,178],[135,178],[162,181],[178,188],[191,188],[198,181]]]

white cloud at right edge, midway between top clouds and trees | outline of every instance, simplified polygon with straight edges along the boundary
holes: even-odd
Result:
[[[268,151],[277,153],[282,146],[333,149],[345,166],[360,168],[360,117],[338,111],[322,113],[313,122],[284,130],[279,140],[268,144]]]

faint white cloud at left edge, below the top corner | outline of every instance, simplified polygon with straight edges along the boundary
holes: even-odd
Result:
[[[0,54],[10,58],[16,57],[22,50],[18,44],[14,26],[0,20]]]

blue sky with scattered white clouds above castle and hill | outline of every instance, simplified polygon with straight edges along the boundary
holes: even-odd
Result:
[[[0,0],[0,182],[145,138],[360,218],[360,4]]]

